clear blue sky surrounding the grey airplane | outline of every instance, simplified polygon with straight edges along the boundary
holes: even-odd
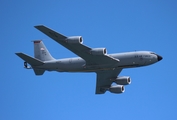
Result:
[[[177,119],[176,6],[176,0],[1,0],[0,119]],[[33,27],[39,24],[81,35],[84,44],[108,53],[148,50],[163,60],[123,70],[120,76],[132,79],[123,94],[95,95],[95,73],[35,76],[23,68],[14,53],[33,56],[36,39],[55,58],[76,56]]]

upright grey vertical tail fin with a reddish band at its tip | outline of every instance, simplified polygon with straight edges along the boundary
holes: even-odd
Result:
[[[54,60],[41,40],[34,41],[34,57],[41,61]]]

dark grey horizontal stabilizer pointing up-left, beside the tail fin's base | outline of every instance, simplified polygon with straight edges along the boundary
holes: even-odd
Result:
[[[33,58],[31,56],[28,56],[24,53],[15,53],[17,56],[19,56],[21,59],[23,59],[25,62],[29,63],[30,65],[32,66],[39,66],[39,65],[42,65],[44,64],[42,61],[36,59],[36,58]]]

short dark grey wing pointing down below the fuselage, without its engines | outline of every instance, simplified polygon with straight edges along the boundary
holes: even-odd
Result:
[[[105,88],[109,88],[112,84],[112,81],[110,79],[117,78],[121,71],[122,68],[96,72],[97,81],[95,94],[104,94],[106,92]]]

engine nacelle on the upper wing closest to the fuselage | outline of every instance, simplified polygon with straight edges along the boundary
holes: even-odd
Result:
[[[107,50],[106,50],[106,48],[93,48],[92,50],[90,50],[90,54],[92,54],[92,55],[106,55]]]

